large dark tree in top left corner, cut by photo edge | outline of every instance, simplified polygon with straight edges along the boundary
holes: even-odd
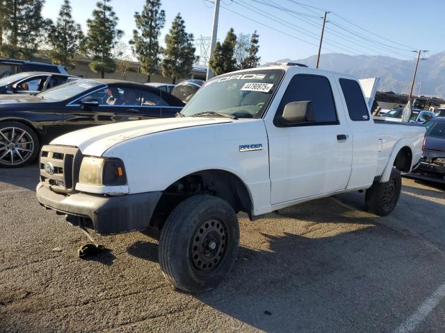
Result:
[[[44,0],[1,0],[1,56],[33,58],[49,22],[42,18],[43,3]]]

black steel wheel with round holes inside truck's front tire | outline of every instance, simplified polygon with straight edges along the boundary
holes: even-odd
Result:
[[[223,261],[227,244],[227,228],[220,219],[202,222],[193,233],[191,262],[196,271],[213,271]]]

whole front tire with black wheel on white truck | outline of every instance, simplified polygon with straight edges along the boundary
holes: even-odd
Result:
[[[175,207],[163,226],[159,264],[177,289],[203,293],[230,271],[238,244],[232,206],[213,196],[192,196]]]

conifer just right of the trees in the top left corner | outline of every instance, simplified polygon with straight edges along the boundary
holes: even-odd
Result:
[[[81,25],[74,22],[71,12],[70,1],[65,0],[60,8],[57,22],[51,24],[48,35],[51,60],[67,69],[76,66],[76,55],[83,40]]]

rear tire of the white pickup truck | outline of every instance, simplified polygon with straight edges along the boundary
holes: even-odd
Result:
[[[401,189],[401,171],[393,168],[387,182],[375,182],[373,186],[366,189],[366,210],[378,216],[387,216],[396,207]]]

